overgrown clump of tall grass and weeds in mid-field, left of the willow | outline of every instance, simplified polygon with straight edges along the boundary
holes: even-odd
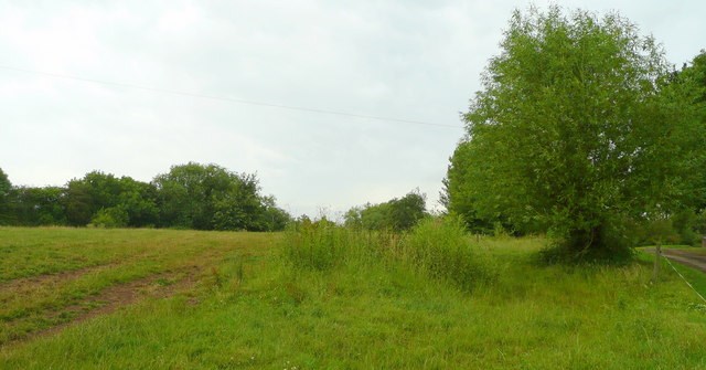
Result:
[[[457,216],[429,218],[407,233],[365,232],[324,220],[298,225],[284,243],[285,257],[296,268],[365,268],[392,262],[466,290],[491,275]]]

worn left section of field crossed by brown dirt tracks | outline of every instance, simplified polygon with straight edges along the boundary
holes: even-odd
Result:
[[[100,294],[111,287],[170,285],[243,247],[258,253],[268,240],[194,231],[0,228],[0,345],[107,304],[111,297]]]

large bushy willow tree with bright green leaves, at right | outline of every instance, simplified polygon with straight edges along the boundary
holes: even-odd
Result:
[[[554,7],[515,11],[501,49],[464,115],[463,197],[574,255],[624,251],[621,222],[666,212],[695,149],[661,47],[618,14]]]

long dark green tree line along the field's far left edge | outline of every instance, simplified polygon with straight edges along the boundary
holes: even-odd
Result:
[[[289,214],[255,175],[173,166],[151,182],[93,171],[64,187],[13,187],[0,169],[0,225],[277,231]]]

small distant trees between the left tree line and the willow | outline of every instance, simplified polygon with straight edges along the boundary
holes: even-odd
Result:
[[[404,231],[426,214],[426,197],[416,190],[385,203],[354,207],[343,219],[344,224],[353,229]]]

